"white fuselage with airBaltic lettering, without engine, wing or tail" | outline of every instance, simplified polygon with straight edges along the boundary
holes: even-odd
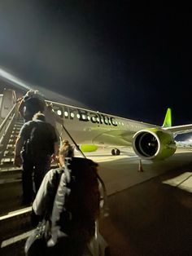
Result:
[[[138,130],[158,127],[141,121],[132,121],[85,108],[53,103],[55,113],[63,118],[63,124],[78,144],[130,146]],[[59,134],[66,138],[65,131],[57,124]]]

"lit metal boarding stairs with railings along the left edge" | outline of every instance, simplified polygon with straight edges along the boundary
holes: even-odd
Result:
[[[24,121],[17,104],[0,125],[0,255],[24,256],[24,244],[33,231],[31,206],[21,205],[21,169],[13,165],[15,140]],[[103,241],[105,245],[105,241]]]

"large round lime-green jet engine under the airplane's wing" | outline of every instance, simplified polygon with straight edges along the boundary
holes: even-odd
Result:
[[[133,149],[138,157],[154,161],[171,157],[177,146],[171,133],[150,128],[139,130],[133,136]]]

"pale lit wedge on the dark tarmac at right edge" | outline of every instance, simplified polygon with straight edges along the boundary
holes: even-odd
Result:
[[[181,188],[187,192],[192,193],[192,173],[185,172],[173,179],[167,179],[163,182],[173,187]]]

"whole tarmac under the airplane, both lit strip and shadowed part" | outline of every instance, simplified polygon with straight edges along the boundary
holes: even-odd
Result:
[[[132,151],[111,156],[100,149],[86,156],[98,162],[106,185],[108,216],[101,214],[99,231],[111,256],[192,255],[191,148],[180,148],[157,163],[140,162]],[[5,196],[18,192],[20,182],[9,192],[4,184]],[[16,208],[18,201],[12,204]]]

